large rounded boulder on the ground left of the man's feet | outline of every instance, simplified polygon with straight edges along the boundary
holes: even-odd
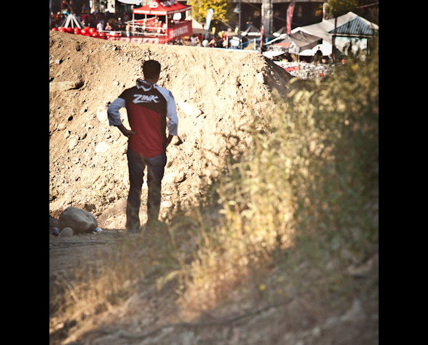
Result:
[[[93,230],[98,227],[98,221],[92,213],[69,207],[61,213],[58,221],[59,230],[64,228],[72,228],[73,233],[93,233]]]

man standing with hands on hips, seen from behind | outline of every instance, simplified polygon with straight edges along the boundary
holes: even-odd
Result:
[[[155,60],[143,64],[144,80],[128,88],[108,107],[110,126],[116,126],[128,136],[128,166],[130,192],[126,209],[126,228],[130,233],[139,233],[141,227],[139,210],[144,169],[147,166],[148,228],[158,221],[160,189],[167,164],[166,148],[174,136],[178,136],[178,115],[171,91],[156,84],[160,75],[160,63]],[[126,108],[131,130],[120,119],[119,109]],[[168,119],[168,122],[167,122]],[[169,136],[167,137],[166,128]]]

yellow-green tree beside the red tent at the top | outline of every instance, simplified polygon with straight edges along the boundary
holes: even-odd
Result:
[[[190,0],[190,4],[193,18],[202,23],[206,21],[206,14],[210,8],[214,10],[215,25],[233,18],[233,0]]]

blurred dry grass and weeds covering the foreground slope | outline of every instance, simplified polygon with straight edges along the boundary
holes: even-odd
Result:
[[[379,43],[371,52],[276,99],[274,112],[250,126],[246,152],[234,152],[239,139],[227,138],[231,154],[200,206],[58,276],[51,326],[170,281],[201,310],[296,289],[352,295],[347,270],[379,243]],[[371,276],[370,289],[378,279]]]

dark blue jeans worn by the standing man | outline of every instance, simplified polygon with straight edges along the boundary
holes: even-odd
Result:
[[[149,222],[153,224],[159,217],[160,211],[160,189],[162,179],[167,165],[166,152],[154,158],[145,158],[136,154],[128,147],[128,167],[130,173],[130,192],[128,195],[128,205],[126,208],[126,228],[132,232],[138,231],[141,227],[139,212],[141,205],[141,189],[143,187],[144,169],[147,166],[147,185],[149,196],[147,199],[147,215]]]

